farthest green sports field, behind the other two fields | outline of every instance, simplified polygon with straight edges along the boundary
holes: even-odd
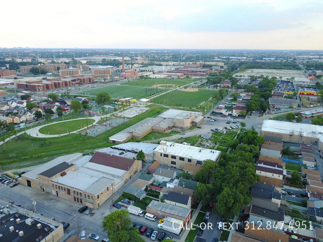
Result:
[[[137,81],[128,81],[121,83],[121,85],[129,85],[129,86],[147,86],[152,87],[153,85],[162,85],[162,87],[166,86],[167,82],[167,88],[172,87],[172,85],[182,86],[191,83],[192,81],[196,81],[194,79],[142,79]],[[169,85],[169,86],[168,86]],[[156,89],[156,87],[155,87]]]

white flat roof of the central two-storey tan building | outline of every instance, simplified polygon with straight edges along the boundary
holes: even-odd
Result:
[[[221,152],[210,149],[199,148],[196,146],[189,146],[183,144],[177,144],[173,142],[164,142],[166,145],[160,145],[155,149],[156,152],[166,153],[179,157],[186,157],[194,160],[205,161],[205,160],[218,160]]]

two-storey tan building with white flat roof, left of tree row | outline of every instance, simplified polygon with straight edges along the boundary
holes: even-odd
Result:
[[[183,169],[185,164],[203,166],[203,161],[219,161],[220,157],[220,151],[168,141],[161,141],[160,146],[154,150],[154,161],[178,169]]]

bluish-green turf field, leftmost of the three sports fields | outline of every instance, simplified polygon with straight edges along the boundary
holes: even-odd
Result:
[[[93,88],[86,91],[78,92],[77,94],[83,94],[88,96],[96,96],[97,93],[106,91],[112,98],[126,98],[132,97],[135,99],[141,99],[146,97],[146,88],[142,86],[125,86],[125,85],[109,85],[98,88]],[[147,87],[147,96],[156,94],[156,88]]]

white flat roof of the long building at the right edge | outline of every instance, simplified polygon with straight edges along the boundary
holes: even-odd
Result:
[[[319,125],[264,120],[261,131],[282,134],[294,132],[294,135],[302,134],[302,136],[305,137],[319,138],[320,141],[323,142],[323,127]]]

